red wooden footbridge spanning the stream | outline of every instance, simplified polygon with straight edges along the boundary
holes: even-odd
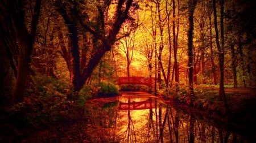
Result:
[[[115,77],[117,84],[140,84],[140,85],[154,85],[154,77]]]

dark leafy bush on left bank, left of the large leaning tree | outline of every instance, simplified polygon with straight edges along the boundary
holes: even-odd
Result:
[[[72,118],[74,103],[67,99],[69,83],[55,77],[32,76],[24,102],[10,109],[12,116],[32,125]]]

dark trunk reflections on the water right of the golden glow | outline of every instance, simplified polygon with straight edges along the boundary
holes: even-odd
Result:
[[[162,123],[155,123],[162,127],[158,128],[159,136],[154,142],[207,143],[243,142],[245,140],[237,133],[227,131],[221,124],[213,124],[210,120],[200,119],[192,112],[191,114],[177,112],[172,107],[166,107],[165,112],[158,112],[158,122],[160,120]]]

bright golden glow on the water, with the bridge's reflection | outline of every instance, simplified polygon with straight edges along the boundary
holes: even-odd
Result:
[[[119,110],[118,115],[122,116],[117,120],[118,136],[121,138],[120,142],[141,142],[142,132],[147,130],[150,115],[150,107],[145,107],[146,104],[153,104],[155,100],[150,96],[146,97],[119,97],[119,104],[129,104],[127,109],[131,110]],[[142,106],[145,109],[137,110],[135,107]],[[151,106],[153,112],[154,107]],[[155,117],[153,117],[155,120]],[[129,140],[129,141],[127,141]]]

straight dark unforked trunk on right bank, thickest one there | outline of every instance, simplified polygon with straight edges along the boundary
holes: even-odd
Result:
[[[196,8],[196,0],[189,0],[188,7],[188,86],[189,96],[191,101],[189,106],[192,106],[193,98],[195,97],[193,88],[193,14]]]

